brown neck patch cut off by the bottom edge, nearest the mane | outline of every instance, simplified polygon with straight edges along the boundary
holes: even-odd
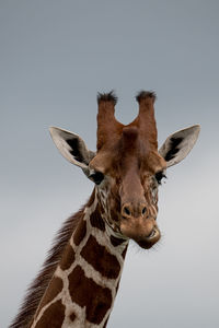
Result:
[[[60,328],[64,319],[65,306],[61,301],[57,301],[45,311],[35,328]]]

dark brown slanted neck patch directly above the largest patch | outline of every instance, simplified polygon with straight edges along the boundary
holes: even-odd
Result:
[[[120,272],[117,258],[110,254],[106,247],[97,244],[93,236],[89,237],[81,256],[103,277],[116,279]]]

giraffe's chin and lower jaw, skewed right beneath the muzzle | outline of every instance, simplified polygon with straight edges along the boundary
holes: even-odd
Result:
[[[158,226],[154,226],[150,233],[150,235],[143,236],[143,235],[136,235],[131,232],[123,233],[127,237],[135,241],[141,248],[149,249],[151,248],[161,237],[160,231]]]

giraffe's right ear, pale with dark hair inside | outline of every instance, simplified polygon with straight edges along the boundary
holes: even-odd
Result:
[[[195,125],[171,134],[165,140],[159,153],[166,161],[168,167],[180,163],[187,156],[198,139],[199,131],[200,126]]]

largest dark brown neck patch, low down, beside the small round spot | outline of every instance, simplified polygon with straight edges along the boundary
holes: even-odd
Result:
[[[69,274],[69,291],[72,302],[85,307],[87,319],[100,325],[112,305],[111,290],[87,278],[83,270],[77,266]]]

